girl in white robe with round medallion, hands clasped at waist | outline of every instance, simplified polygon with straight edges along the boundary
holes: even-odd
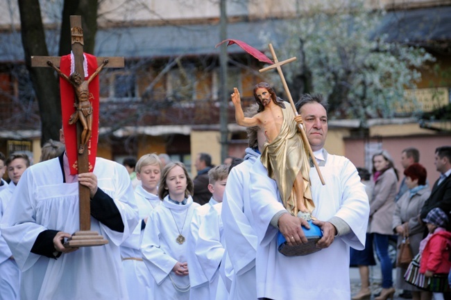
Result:
[[[148,218],[141,251],[155,279],[154,299],[189,299],[187,242],[194,209],[194,184],[185,165],[173,162],[164,167],[158,195],[162,205]]]

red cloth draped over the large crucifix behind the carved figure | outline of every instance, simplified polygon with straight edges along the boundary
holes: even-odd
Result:
[[[85,60],[87,60],[87,74],[85,73],[85,80],[87,80],[92,73],[97,69],[97,60],[94,55],[84,53]],[[71,55],[61,57],[60,70],[65,73],[67,77],[71,73]],[[89,170],[94,170],[97,154],[97,141],[99,137],[99,76],[96,76],[89,86],[90,102],[92,104],[92,135],[90,141],[87,143],[85,151],[87,151]],[[77,157],[77,130],[76,124],[69,125],[69,118],[74,114],[76,107],[74,87],[64,78],[60,78],[60,93],[61,93],[61,110],[62,110],[62,129],[65,134],[65,144],[67,158],[69,159],[69,168],[71,175],[78,174]]]

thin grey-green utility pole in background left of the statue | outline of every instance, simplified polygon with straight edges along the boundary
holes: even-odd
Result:
[[[226,12],[226,0],[220,1],[220,21],[219,21],[219,40],[223,41],[227,39],[227,12]],[[219,62],[221,64],[221,76],[220,76],[220,97],[221,106],[219,112],[220,131],[221,131],[221,163],[228,156],[228,91],[227,91],[227,64],[228,55],[227,47],[221,47],[221,54],[219,56]]]

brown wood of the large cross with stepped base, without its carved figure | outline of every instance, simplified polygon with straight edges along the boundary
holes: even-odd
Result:
[[[83,29],[81,28],[81,17],[70,16],[71,23],[71,48],[74,53],[75,71],[79,74],[84,74],[83,69]],[[31,67],[50,67],[49,62],[55,67],[60,66],[60,57],[56,56],[32,56]],[[106,59],[108,64],[105,68],[123,68],[124,58],[96,58],[97,64],[101,65]],[[85,76],[82,76],[83,79]],[[77,97],[76,101],[78,100]],[[76,104],[78,104],[76,102]],[[80,147],[80,136],[83,132],[83,127],[80,121],[76,123],[77,132],[77,149]],[[78,152],[77,157],[78,174],[89,172],[88,151],[83,153]],[[74,233],[66,243],[65,247],[84,247],[97,246],[108,243],[108,240],[99,236],[99,233],[90,231],[91,229],[91,207],[90,207],[90,189],[87,186],[78,184],[79,193],[79,208],[80,208],[80,231]]]

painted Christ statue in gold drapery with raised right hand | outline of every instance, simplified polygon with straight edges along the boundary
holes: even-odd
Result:
[[[289,213],[309,220],[314,203],[309,184],[307,152],[298,132],[298,124],[303,124],[303,118],[294,116],[291,109],[286,109],[284,101],[275,95],[273,88],[266,82],[255,86],[254,97],[259,109],[255,116],[246,118],[241,108],[239,91],[234,88],[231,98],[235,105],[237,124],[259,126],[264,130],[266,143],[262,151],[262,164],[268,169],[269,177],[278,183],[282,202]]]

